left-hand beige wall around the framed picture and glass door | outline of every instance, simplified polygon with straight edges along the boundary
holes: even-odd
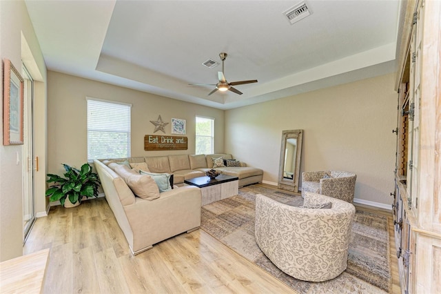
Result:
[[[25,43],[23,43],[25,41]],[[23,48],[30,55],[23,56]],[[21,62],[29,65],[31,74],[39,79],[35,90],[36,155],[41,159],[40,171],[36,173],[36,211],[45,211],[45,103],[46,68],[37,37],[30,23],[28,10],[23,1],[0,1],[0,59],[10,59],[21,72]],[[32,63],[32,65],[31,65]],[[3,97],[3,70],[0,70],[0,89]],[[3,101],[3,99],[2,99]],[[3,113],[3,103],[0,104]],[[27,114],[25,114],[27,115]],[[3,139],[3,121],[0,128]],[[42,139],[43,138],[43,139]],[[23,146],[0,144],[0,261],[22,255],[23,244]],[[18,159],[18,163],[17,163]]]

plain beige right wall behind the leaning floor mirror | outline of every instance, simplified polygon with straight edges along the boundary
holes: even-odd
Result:
[[[354,172],[356,198],[390,204],[396,152],[396,135],[391,133],[396,128],[394,81],[395,74],[384,75],[227,110],[225,152],[262,168],[264,181],[278,182],[282,131],[303,129],[300,173]]]

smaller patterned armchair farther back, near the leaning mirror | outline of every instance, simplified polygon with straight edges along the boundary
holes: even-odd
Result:
[[[302,173],[302,197],[305,197],[305,192],[312,192],[352,203],[356,179],[356,174],[344,171],[304,172]]]

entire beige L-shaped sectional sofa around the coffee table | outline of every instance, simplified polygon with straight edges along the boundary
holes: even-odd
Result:
[[[105,198],[133,254],[201,226],[201,189],[185,185],[184,179],[204,176],[205,171],[213,168],[212,158],[219,157],[233,159],[228,154],[212,154],[94,160]],[[151,173],[170,173],[178,186],[159,193],[149,176],[140,175],[124,164],[112,164],[112,161],[128,161],[132,168],[142,164],[145,171]],[[263,177],[263,170],[247,167],[244,163],[215,169],[238,177],[239,186],[261,182]]]

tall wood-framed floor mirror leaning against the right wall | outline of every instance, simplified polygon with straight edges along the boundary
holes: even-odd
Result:
[[[303,130],[283,130],[278,188],[298,193]]]

